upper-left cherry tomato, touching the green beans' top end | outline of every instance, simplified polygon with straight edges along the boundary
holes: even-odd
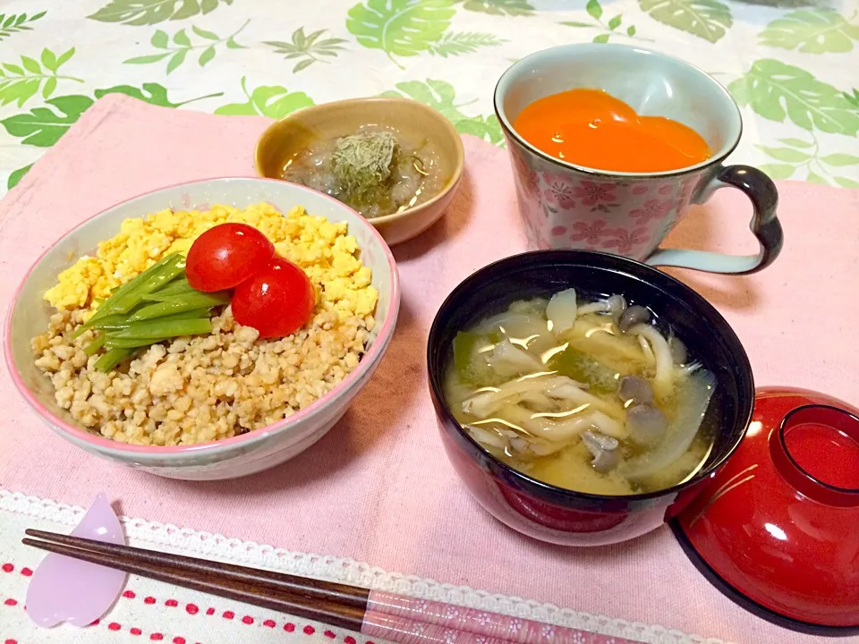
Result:
[[[191,244],[185,274],[198,291],[223,291],[258,273],[274,256],[274,244],[253,226],[220,224]]]

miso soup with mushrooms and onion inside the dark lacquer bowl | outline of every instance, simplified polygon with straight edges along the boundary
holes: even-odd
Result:
[[[716,388],[681,339],[620,295],[517,301],[455,336],[445,396],[484,449],[533,479],[597,495],[691,478]]]

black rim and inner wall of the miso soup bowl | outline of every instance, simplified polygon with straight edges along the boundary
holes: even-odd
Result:
[[[502,275],[521,272],[535,265],[566,265],[608,270],[622,275],[623,279],[645,284],[647,288],[668,292],[670,298],[681,301],[688,309],[693,309],[708,327],[721,337],[723,343],[727,345],[732,360],[735,362],[733,372],[736,377],[738,409],[736,410],[735,422],[731,427],[725,429],[728,435],[733,434],[733,436],[727,444],[727,449],[724,450],[724,453],[705,464],[692,478],[677,483],[674,486],[634,495],[613,496],[578,492],[565,487],[557,487],[539,479],[533,479],[524,472],[515,470],[505,462],[499,461],[498,458],[474,440],[455,419],[445,399],[444,371],[447,364],[449,364],[448,360],[450,358],[438,358],[439,353],[449,356],[449,348],[440,345],[440,338],[446,332],[447,318],[450,317],[451,309],[454,309],[463,300],[464,295],[472,296],[475,292],[480,291],[481,286],[502,279]],[[511,301],[514,300],[512,299]],[[658,310],[655,313],[659,315]],[[686,489],[696,486],[702,480],[710,478],[715,471],[719,470],[736,452],[752,421],[754,407],[752,365],[743,344],[740,343],[740,339],[737,337],[734,329],[727,323],[727,320],[722,317],[710,302],[706,301],[699,293],[675,277],[642,262],[611,253],[572,249],[531,250],[498,259],[485,267],[481,267],[457,284],[438,308],[436,316],[432,321],[432,326],[429,329],[426,357],[429,392],[432,396],[438,418],[446,429],[455,428],[460,439],[459,442],[461,445],[467,447],[470,458],[484,469],[489,470],[489,473],[494,478],[507,485],[511,485],[534,498],[564,507],[583,507],[583,505],[586,505],[591,508],[604,508],[608,510],[610,507],[616,507],[617,510],[622,510],[624,507],[629,507],[630,505],[648,505],[648,502],[655,502],[655,500],[666,496],[676,496]],[[702,362],[706,366],[706,360],[702,360]]]

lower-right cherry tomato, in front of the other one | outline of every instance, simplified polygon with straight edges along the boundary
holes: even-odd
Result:
[[[233,317],[253,326],[259,337],[284,337],[298,331],[313,314],[313,284],[291,261],[276,257],[233,293]]]

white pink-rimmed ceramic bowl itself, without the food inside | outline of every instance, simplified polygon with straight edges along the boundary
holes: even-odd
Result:
[[[155,447],[109,440],[76,423],[56,404],[54,389],[35,365],[30,338],[47,328],[53,309],[43,296],[57,274],[98,242],[119,232],[123,220],[164,208],[206,209],[215,204],[246,208],[268,202],[282,213],[303,206],[310,215],[345,222],[361,248],[361,260],[372,269],[378,289],[376,326],[367,352],[344,381],[318,401],[266,428],[200,445]],[[13,383],[47,426],[73,445],[109,461],[171,479],[235,479],[283,463],[325,436],[367,384],[394,335],[400,288],[394,257],[370,223],[344,204],[292,183],[268,179],[211,179],[149,192],[108,208],[77,226],[51,246],[15,293],[4,329],[6,365]]]

